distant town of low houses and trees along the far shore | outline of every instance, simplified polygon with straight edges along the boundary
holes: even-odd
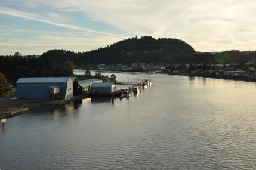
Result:
[[[88,66],[75,66],[78,69],[85,70],[118,70],[128,72],[146,72],[158,71],[156,73],[170,73],[176,75],[193,75],[193,76],[231,76],[240,78],[256,78],[256,72],[253,63],[245,63],[243,66],[237,64],[173,64],[165,66],[164,64],[155,63],[132,63],[127,64],[88,64]]]

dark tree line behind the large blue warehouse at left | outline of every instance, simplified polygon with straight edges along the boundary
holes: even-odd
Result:
[[[56,66],[45,53],[38,58],[35,55],[24,57],[20,52],[0,56],[0,73],[13,84],[16,84],[19,78],[72,76],[74,69],[73,62],[68,60]]]

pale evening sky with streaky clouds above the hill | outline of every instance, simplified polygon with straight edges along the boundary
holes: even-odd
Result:
[[[254,0],[1,0],[0,55],[86,52],[137,36],[256,50]]]

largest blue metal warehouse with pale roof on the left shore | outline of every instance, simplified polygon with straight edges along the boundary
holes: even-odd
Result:
[[[23,99],[70,100],[79,88],[75,77],[20,78],[16,84],[14,96]]]

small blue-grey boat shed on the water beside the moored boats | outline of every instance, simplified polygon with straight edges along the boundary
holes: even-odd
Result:
[[[98,83],[93,82],[91,84],[91,92],[98,94],[111,94],[115,91],[115,85],[113,82]]]

